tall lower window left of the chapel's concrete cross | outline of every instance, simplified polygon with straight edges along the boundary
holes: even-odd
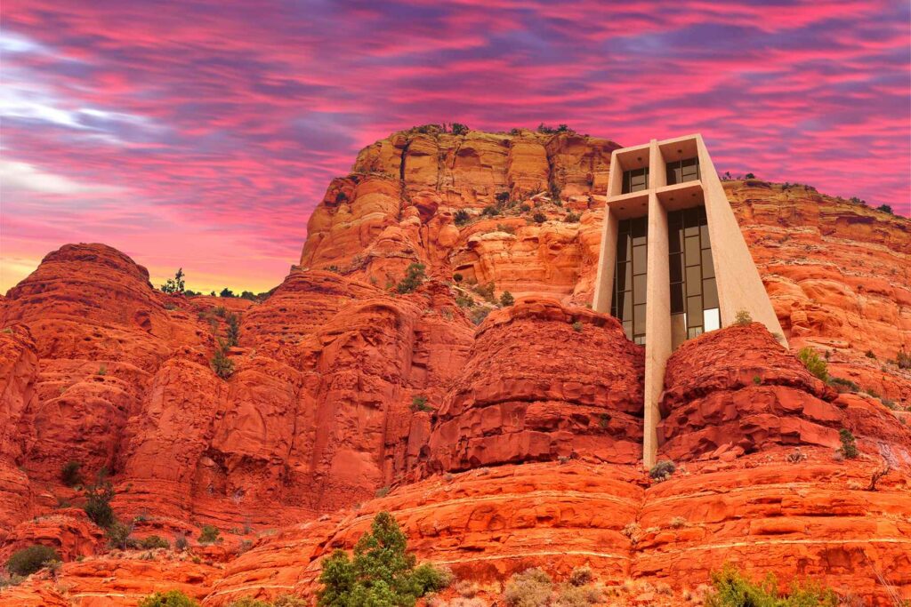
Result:
[[[610,314],[623,324],[629,339],[644,344],[649,219],[622,219],[617,231],[617,266]]]

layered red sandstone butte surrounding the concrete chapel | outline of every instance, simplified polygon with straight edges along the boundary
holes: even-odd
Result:
[[[586,308],[616,147],[395,133],[333,179],[262,301],[165,295],[105,245],[48,254],[0,298],[0,560],[41,543],[66,562],[0,603],[312,596],[322,558],[383,510],[488,602],[513,572],[588,565],[619,601],[679,605],[726,561],[911,599],[911,370],[895,363],[911,222],[727,182],[793,350],[751,324],[674,352],[659,458],[678,469],[652,481],[642,349]],[[399,294],[413,263],[428,278]],[[209,360],[227,312],[241,335],[224,380]],[[804,346],[862,391],[814,378]],[[836,453],[843,428],[856,460]],[[69,460],[87,481],[109,472],[136,537],[189,550],[108,548],[60,481]],[[224,541],[200,545],[204,524]]]

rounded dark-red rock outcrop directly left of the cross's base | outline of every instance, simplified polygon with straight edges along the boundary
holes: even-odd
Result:
[[[555,300],[492,313],[438,411],[429,470],[641,459],[642,349],[617,319]]]

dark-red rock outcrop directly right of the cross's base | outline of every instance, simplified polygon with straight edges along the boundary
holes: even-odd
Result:
[[[858,398],[858,419],[882,418],[896,433],[875,421],[865,428],[846,413],[844,397],[836,396],[759,323],[711,331],[684,342],[668,360],[660,455],[691,460],[771,444],[837,449],[839,430],[847,428],[869,437],[870,446],[892,443],[896,457],[911,463],[911,432],[895,423],[891,411]]]

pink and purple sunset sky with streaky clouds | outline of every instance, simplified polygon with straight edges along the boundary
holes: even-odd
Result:
[[[69,242],[272,288],[414,125],[701,132],[719,171],[911,215],[907,0],[5,0],[0,291]]]

